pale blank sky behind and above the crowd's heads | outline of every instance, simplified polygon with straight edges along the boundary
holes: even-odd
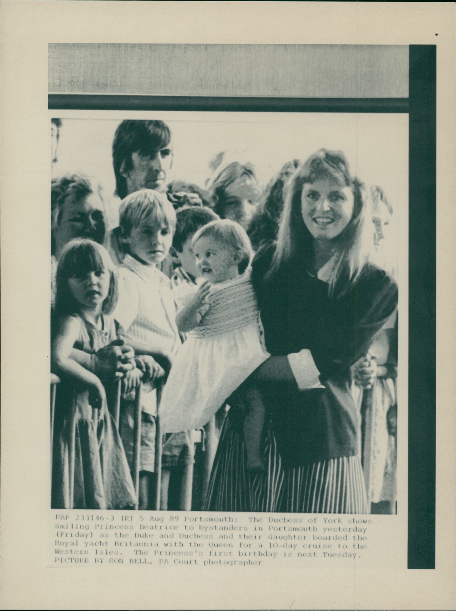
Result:
[[[125,114],[139,118],[138,113]],[[172,178],[204,186],[210,160],[242,152],[257,166],[263,185],[285,161],[306,159],[318,148],[342,150],[362,181],[383,187],[395,211],[408,205],[408,115],[355,113],[142,113],[162,119],[172,133]],[[111,145],[121,118],[62,119],[53,175],[84,170],[105,188],[109,218],[116,219]],[[393,220],[398,214],[394,214]],[[395,223],[392,223],[393,229]],[[392,244],[390,244],[392,246]],[[395,250],[395,249],[394,249]]]

